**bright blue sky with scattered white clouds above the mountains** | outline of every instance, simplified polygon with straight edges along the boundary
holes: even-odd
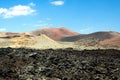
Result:
[[[0,0],[0,32],[46,27],[120,32],[120,0]]]

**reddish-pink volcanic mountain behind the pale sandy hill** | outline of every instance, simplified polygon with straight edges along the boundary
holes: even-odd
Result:
[[[45,34],[54,40],[61,40],[64,37],[78,35],[78,33],[68,30],[66,28],[43,28],[31,31],[30,33],[34,35]]]

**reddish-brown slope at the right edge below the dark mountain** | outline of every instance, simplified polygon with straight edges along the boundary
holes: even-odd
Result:
[[[120,36],[111,38],[111,39],[106,39],[104,41],[100,41],[101,45],[114,45],[114,46],[120,46]]]

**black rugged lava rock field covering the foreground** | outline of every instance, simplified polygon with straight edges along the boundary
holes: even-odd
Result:
[[[0,48],[0,80],[120,80],[120,51]]]

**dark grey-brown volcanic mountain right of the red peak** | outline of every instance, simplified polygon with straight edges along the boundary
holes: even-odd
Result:
[[[118,32],[95,32],[91,34],[82,34],[82,35],[76,35],[76,36],[70,36],[70,37],[65,37],[61,39],[61,41],[79,41],[81,39],[97,39],[97,40],[105,40],[105,39],[110,39],[113,37],[116,37],[120,35]]]

